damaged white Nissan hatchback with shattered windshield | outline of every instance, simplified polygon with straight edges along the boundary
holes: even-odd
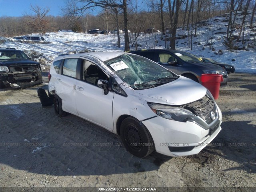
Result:
[[[138,55],[62,54],[49,78],[57,116],[68,112],[120,135],[138,157],[198,154],[221,130],[204,86]]]

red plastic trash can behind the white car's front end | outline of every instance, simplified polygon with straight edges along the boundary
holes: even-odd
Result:
[[[218,74],[202,74],[200,78],[202,85],[211,92],[214,99],[219,98],[220,82],[223,81],[222,75]]]

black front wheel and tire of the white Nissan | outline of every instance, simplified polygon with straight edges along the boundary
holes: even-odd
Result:
[[[148,129],[135,118],[122,121],[120,135],[126,150],[134,156],[143,158],[154,151],[154,141]]]

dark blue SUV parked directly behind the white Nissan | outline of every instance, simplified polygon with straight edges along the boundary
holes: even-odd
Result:
[[[190,78],[196,82],[200,82],[202,74],[221,74],[223,82],[221,85],[226,85],[228,82],[228,74],[222,67],[204,63],[196,56],[178,50],[168,49],[152,49],[152,50],[136,50],[130,53],[146,57],[172,72]]]

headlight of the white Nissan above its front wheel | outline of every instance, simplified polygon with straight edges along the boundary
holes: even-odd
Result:
[[[180,107],[166,106],[157,103],[148,103],[148,106],[158,116],[174,121],[186,122],[187,118],[196,116],[191,111]]]

